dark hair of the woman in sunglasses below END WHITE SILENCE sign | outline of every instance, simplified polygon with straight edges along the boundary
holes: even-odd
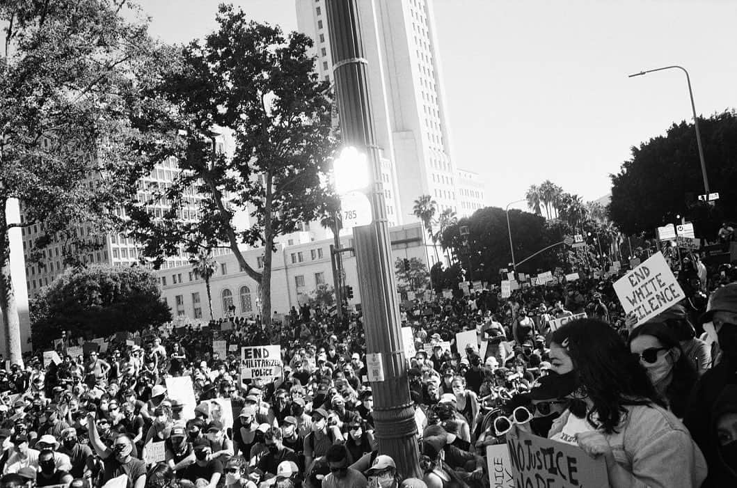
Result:
[[[638,337],[638,335],[652,335],[660,341],[660,344],[663,344],[663,347],[667,347],[668,349],[676,348],[680,351],[680,356],[673,365],[671,383],[666,388],[665,394],[671,412],[675,416],[683,418],[686,410],[686,401],[696,384],[696,380],[699,379],[699,374],[696,373],[696,368],[694,368],[691,360],[683,354],[677,331],[673,330],[667,322],[652,322],[643,324],[633,330],[632,334],[629,335],[629,341],[632,342],[632,339]]]

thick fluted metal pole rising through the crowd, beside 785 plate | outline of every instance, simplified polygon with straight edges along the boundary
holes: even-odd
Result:
[[[374,391],[374,424],[379,451],[394,459],[399,475],[422,478],[357,1],[327,0],[326,13],[343,144],[366,153],[371,178],[367,196],[373,220],[368,226],[354,227],[353,237],[367,359],[378,354],[381,365],[368,371]],[[383,375],[377,376],[381,369]]]

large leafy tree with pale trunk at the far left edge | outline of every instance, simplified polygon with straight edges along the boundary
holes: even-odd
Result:
[[[126,120],[160,49],[145,23],[124,19],[128,8],[136,17],[122,0],[0,2],[0,311],[13,363],[21,363],[21,344],[10,259],[23,257],[11,257],[8,231],[38,223],[40,264],[52,238],[65,242],[72,260],[100,243],[74,226],[111,223],[131,191],[114,175],[136,160],[130,147],[138,135]],[[6,218],[14,198],[23,223]]]

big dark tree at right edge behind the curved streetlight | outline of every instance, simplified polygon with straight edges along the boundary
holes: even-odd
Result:
[[[699,202],[704,185],[694,125],[671,125],[639,147],[612,178],[609,217],[624,234],[694,222],[696,235],[713,239],[722,220],[733,220],[737,208],[737,114],[734,110],[699,119],[710,190],[719,192],[714,206]]]

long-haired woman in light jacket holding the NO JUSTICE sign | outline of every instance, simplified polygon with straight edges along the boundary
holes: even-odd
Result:
[[[550,439],[604,458],[612,488],[701,486],[706,463],[699,447],[609,324],[565,324],[551,335],[550,358],[571,399]]]

